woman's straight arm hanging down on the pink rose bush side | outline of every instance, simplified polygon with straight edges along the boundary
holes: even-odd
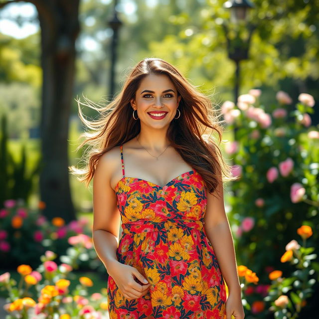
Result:
[[[207,208],[204,216],[204,229],[213,247],[223,278],[228,287],[226,303],[227,319],[244,318],[241,301],[241,287],[237,273],[237,262],[233,237],[224,206],[221,177],[214,194],[207,192]]]

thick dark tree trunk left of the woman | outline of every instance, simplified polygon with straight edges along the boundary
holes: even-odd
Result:
[[[69,117],[75,75],[75,40],[79,33],[79,0],[34,3],[41,26],[43,70],[40,196],[44,215],[75,219],[68,172]]]

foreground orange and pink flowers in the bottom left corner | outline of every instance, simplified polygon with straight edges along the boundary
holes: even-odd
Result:
[[[32,318],[31,315],[41,315],[46,319],[104,319],[107,318],[107,291],[88,295],[87,288],[93,286],[88,277],[80,277],[73,291],[69,290],[70,272],[76,265],[79,256],[92,247],[92,239],[80,234],[69,238],[72,250],[67,256],[61,257],[68,263],[59,266],[53,260],[57,255],[46,251],[41,256],[41,265],[33,270],[29,265],[19,265],[17,272],[21,278],[16,282],[10,278],[10,273],[0,275],[0,287],[8,293],[8,303],[4,309],[9,313],[7,319]],[[31,292],[30,288],[33,289]]]

